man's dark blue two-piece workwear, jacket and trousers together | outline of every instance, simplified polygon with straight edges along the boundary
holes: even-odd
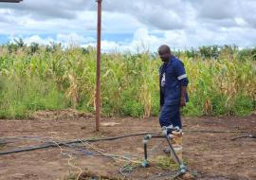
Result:
[[[182,129],[180,117],[181,86],[187,86],[184,64],[173,55],[168,63],[163,63],[159,69],[160,106],[162,111],[159,117],[160,126],[178,126]],[[188,101],[188,95],[185,97]]]

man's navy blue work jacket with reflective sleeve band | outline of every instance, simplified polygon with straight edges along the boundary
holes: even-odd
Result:
[[[159,68],[160,106],[180,103],[181,86],[188,86],[184,64],[173,55]],[[185,96],[189,100],[188,95]]]

